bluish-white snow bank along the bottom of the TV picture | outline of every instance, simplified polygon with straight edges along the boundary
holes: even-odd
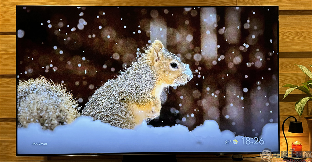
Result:
[[[79,154],[134,152],[261,152],[264,148],[278,150],[278,124],[268,123],[262,128],[263,145],[243,145],[243,136],[232,131],[220,131],[214,120],[189,131],[186,126],[153,127],[143,123],[134,130],[121,129],[81,116],[54,131],[42,130],[39,123],[17,128],[18,154]],[[251,137],[253,138],[253,137]],[[225,145],[225,141],[233,141]],[[255,140],[250,140],[255,142]],[[245,140],[246,142],[246,140]],[[38,145],[33,145],[37,143]],[[40,143],[47,143],[40,145]],[[259,141],[257,142],[259,143]]]

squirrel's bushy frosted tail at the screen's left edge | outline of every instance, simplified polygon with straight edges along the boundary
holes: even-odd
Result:
[[[78,116],[78,104],[72,94],[43,76],[18,82],[17,108],[18,127],[34,122],[44,130],[53,130]]]

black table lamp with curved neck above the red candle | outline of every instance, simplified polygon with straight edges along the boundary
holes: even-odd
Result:
[[[286,157],[283,157],[284,159],[289,159],[290,158],[290,157],[288,157],[288,143],[287,143],[287,139],[286,139],[285,132],[284,132],[284,124],[285,124],[286,120],[291,118],[291,117],[295,118],[293,116],[286,117],[286,119],[283,122],[283,126],[282,126],[283,135],[284,135],[285,141],[286,141],[286,150],[287,150]],[[299,121],[297,122],[296,118],[295,118],[295,121],[290,121],[288,131],[291,132],[291,133],[303,133],[302,122],[299,122]],[[290,158],[290,159],[302,159],[302,158]]]

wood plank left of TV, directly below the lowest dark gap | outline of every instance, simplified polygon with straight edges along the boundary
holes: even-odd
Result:
[[[0,122],[0,130],[1,140],[16,139],[16,122]]]

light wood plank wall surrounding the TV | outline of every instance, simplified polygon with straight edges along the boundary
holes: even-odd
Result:
[[[16,143],[16,5],[84,5],[84,6],[279,6],[280,98],[286,83],[300,84],[307,76],[294,64],[311,64],[311,1],[1,1],[1,161],[121,161],[122,155],[66,156],[66,157],[15,157]],[[303,122],[304,133],[286,132],[289,141],[302,141],[303,150],[309,149],[307,123],[303,117],[311,116],[311,101],[301,118],[295,112],[295,102],[304,94],[294,91],[280,101],[280,122],[292,115]],[[296,93],[296,94],[295,94]],[[309,108],[308,108],[309,107]],[[281,124],[280,124],[281,126]],[[286,122],[286,127],[288,126]],[[281,130],[281,129],[280,129]],[[285,140],[280,133],[280,149],[285,150]],[[212,157],[216,157],[211,155]],[[252,155],[249,155],[252,156]],[[231,160],[207,158],[210,155],[177,155],[178,161]],[[246,157],[246,155],[245,155]],[[246,160],[246,159],[245,159]],[[244,160],[244,161],[245,161]],[[249,159],[259,161],[260,159]]]

